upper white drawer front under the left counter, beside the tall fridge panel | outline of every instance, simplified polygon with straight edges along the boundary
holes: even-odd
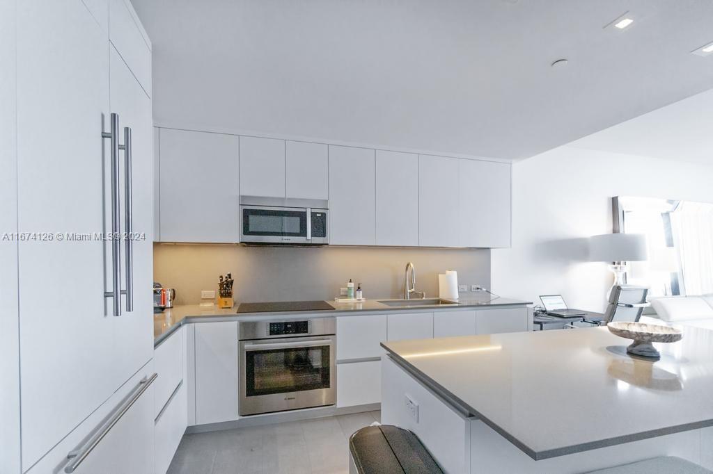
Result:
[[[154,349],[153,362],[158,379],[154,382],[155,402],[154,416],[158,416],[165,406],[173,391],[183,380],[183,331],[181,327],[178,331],[170,335]]]

